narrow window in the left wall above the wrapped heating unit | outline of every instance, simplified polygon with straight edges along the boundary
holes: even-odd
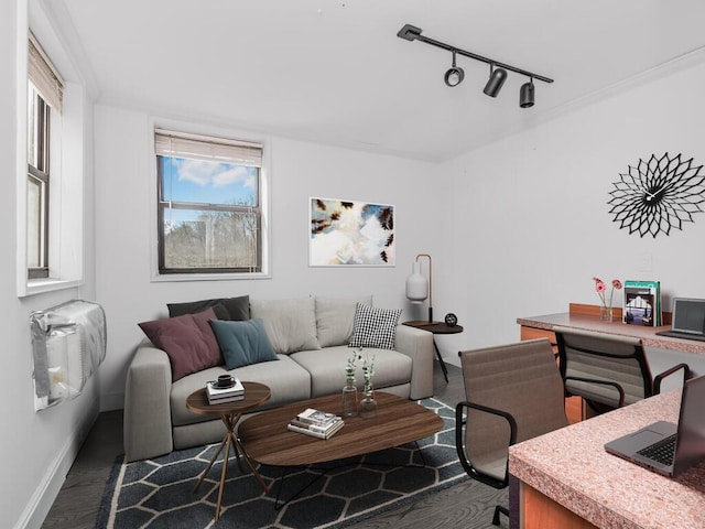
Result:
[[[61,112],[62,80],[33,37],[28,56],[26,267],[37,279],[50,276],[50,125]]]

